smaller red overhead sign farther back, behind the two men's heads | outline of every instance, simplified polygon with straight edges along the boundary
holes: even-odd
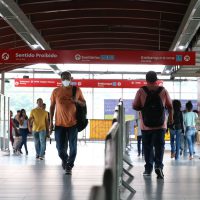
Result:
[[[163,81],[158,80],[158,85],[163,85]],[[45,78],[17,78],[15,87],[59,87],[60,79]],[[143,80],[116,80],[116,79],[74,79],[72,85],[85,88],[140,88],[146,85]]]

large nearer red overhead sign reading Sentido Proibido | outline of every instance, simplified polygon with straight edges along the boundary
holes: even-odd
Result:
[[[195,52],[127,50],[0,50],[0,63],[195,65]]]

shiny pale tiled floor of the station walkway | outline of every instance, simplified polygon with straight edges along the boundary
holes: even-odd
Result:
[[[48,143],[44,161],[35,160],[34,146],[29,145],[29,155],[0,155],[0,200],[88,200],[92,185],[102,183],[104,170],[104,144],[79,143],[78,155],[72,176],[65,175],[60,166],[55,143]],[[130,185],[137,191],[130,196],[128,191],[122,199],[137,200],[199,200],[200,160],[181,158],[171,160],[169,146],[165,152],[165,179],[156,175],[142,176],[144,160],[138,158],[133,146],[130,152],[135,176]],[[200,150],[197,147],[197,153]],[[127,177],[124,177],[126,179]]]

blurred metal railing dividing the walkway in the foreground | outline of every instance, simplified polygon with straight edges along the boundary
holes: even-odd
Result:
[[[94,186],[91,190],[90,200],[99,199],[100,196],[105,200],[120,200],[121,187],[128,189],[131,195],[135,190],[123,180],[123,173],[126,173],[131,179],[133,175],[123,168],[123,161],[132,166],[130,158],[126,155],[126,130],[125,114],[123,101],[120,100],[115,108],[113,124],[105,140],[105,170],[102,186]],[[95,194],[95,190],[98,191]]]

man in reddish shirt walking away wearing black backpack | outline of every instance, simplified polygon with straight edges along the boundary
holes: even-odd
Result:
[[[163,179],[163,155],[167,117],[173,122],[172,102],[167,90],[156,84],[157,74],[149,71],[146,74],[147,86],[141,87],[133,101],[133,109],[141,111],[141,130],[145,158],[144,176],[150,176],[153,167],[157,178]]]

